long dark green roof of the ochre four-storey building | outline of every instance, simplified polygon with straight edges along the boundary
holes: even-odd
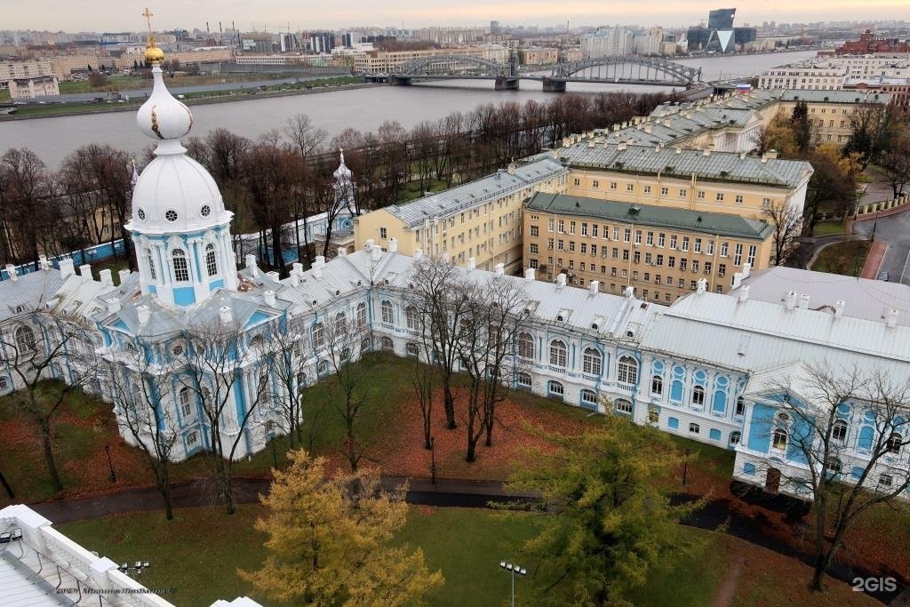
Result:
[[[529,210],[583,218],[599,218],[636,226],[684,229],[702,234],[764,240],[773,228],[758,219],[732,213],[692,211],[687,208],[657,207],[628,202],[615,202],[565,194],[538,192],[529,201]]]

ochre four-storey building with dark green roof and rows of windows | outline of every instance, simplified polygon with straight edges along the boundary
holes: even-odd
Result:
[[[733,275],[767,268],[773,228],[732,213],[538,193],[524,210],[525,263],[541,278],[565,274],[585,287],[669,305],[706,288],[725,293]],[[609,288],[608,288],[609,285]]]

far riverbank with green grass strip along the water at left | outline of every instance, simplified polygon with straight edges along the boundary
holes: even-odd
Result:
[[[198,97],[186,97],[182,99],[183,103],[187,106],[205,106],[211,104],[219,103],[229,103],[233,101],[249,101],[251,98],[273,98],[273,97],[284,97],[284,96],[297,96],[297,95],[313,95],[316,93],[330,93],[336,91],[347,91],[347,90],[356,90],[358,88],[372,88],[375,86],[388,86],[377,83],[370,82],[361,82],[353,83],[349,85],[335,85],[335,86],[313,86],[312,88],[294,88],[294,89],[284,89],[277,91],[257,91],[257,90],[239,90],[235,89],[225,95],[214,95],[214,96],[198,96]],[[35,120],[39,118],[56,118],[56,117],[66,117],[66,116],[86,116],[88,114],[115,114],[118,112],[126,111],[136,111],[138,106],[141,106],[142,103],[145,103],[145,99],[138,99],[136,101],[128,101],[124,103],[105,103],[103,106],[99,104],[78,104],[73,106],[52,106],[48,104],[47,106],[42,106],[42,109],[47,108],[46,112],[40,114],[7,114],[0,115],[0,122],[16,122],[20,120]],[[52,111],[52,109],[59,109],[59,112]],[[68,111],[67,111],[68,110]]]

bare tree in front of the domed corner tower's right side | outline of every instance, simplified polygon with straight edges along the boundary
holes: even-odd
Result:
[[[253,412],[268,395],[268,368],[248,359],[258,356],[258,351],[248,348],[248,336],[227,318],[191,327],[186,339],[183,377],[206,418],[217,499],[233,514],[234,458]],[[242,410],[238,410],[238,401],[243,403]]]

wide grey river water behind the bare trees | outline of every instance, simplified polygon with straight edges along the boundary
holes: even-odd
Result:
[[[683,59],[689,66],[701,67],[704,80],[759,74],[769,67],[814,56],[813,52],[751,56],[718,56]],[[612,90],[654,91],[662,87],[596,85],[569,83],[575,93]],[[289,116],[307,114],[329,137],[348,127],[362,131],[377,128],[386,120],[414,126],[455,111],[470,111],[476,106],[505,100],[545,101],[553,93],[541,91],[541,83],[524,80],[521,90],[496,92],[493,83],[483,80],[450,80],[410,87],[376,86],[310,95],[261,97],[248,101],[193,106],[193,135],[204,137],[224,126],[245,137],[284,126]],[[85,116],[56,116],[0,122],[0,154],[10,147],[30,147],[50,168],[60,163],[76,147],[89,143],[109,143],[132,154],[139,154],[152,143],[136,127],[136,112],[112,112]]]

